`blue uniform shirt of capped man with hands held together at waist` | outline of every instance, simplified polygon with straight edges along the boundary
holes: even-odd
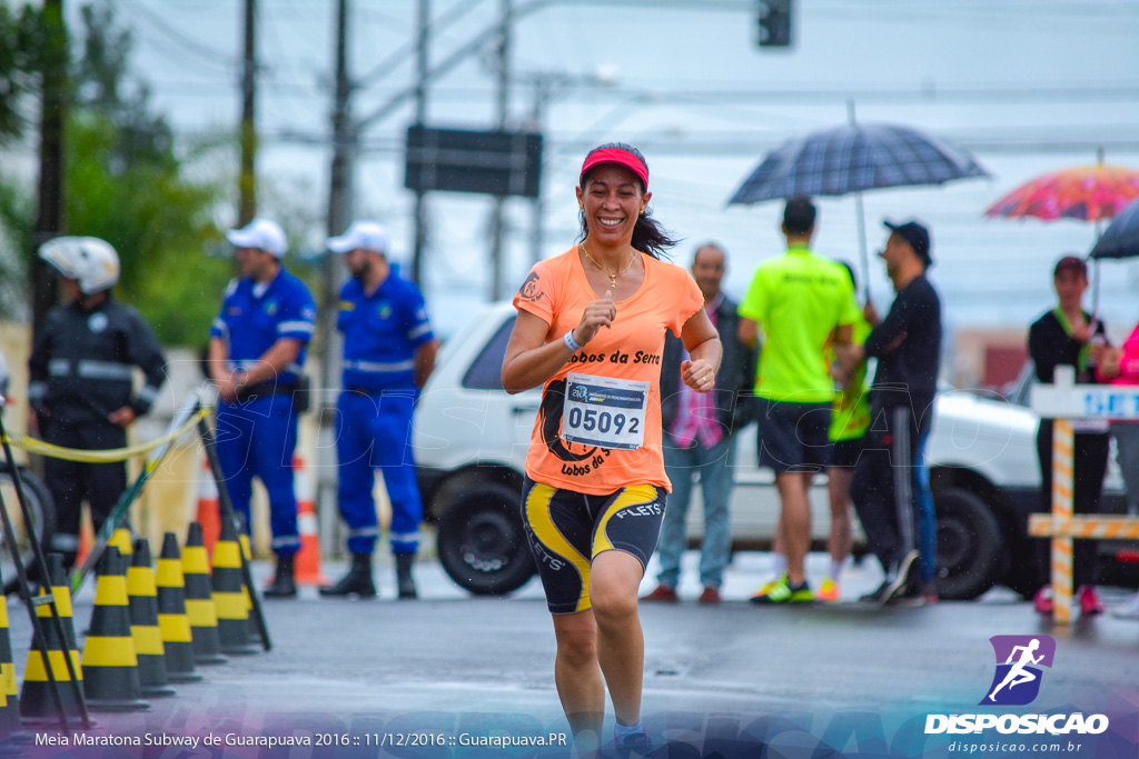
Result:
[[[304,282],[284,269],[268,288],[262,290],[255,284],[248,277],[229,283],[210,337],[229,343],[227,365],[231,371],[252,368],[280,338],[300,340],[296,363],[278,377],[281,382],[295,382],[312,338],[317,305]]]

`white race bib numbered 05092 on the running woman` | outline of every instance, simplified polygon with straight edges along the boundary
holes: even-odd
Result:
[[[648,382],[570,372],[562,439],[601,448],[638,449],[645,445],[648,391]]]

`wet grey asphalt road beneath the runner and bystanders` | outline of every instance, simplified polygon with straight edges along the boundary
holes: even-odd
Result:
[[[695,553],[686,554],[695,568]],[[826,556],[812,554],[821,576]],[[1040,702],[1113,692],[1139,703],[1139,621],[1103,616],[1070,630],[1041,621],[1017,596],[993,591],[980,602],[877,609],[857,602],[761,609],[746,602],[767,578],[770,556],[738,554],[720,607],[695,601],[641,604],[646,640],[644,713],[756,713],[869,708],[945,711],[976,704],[993,675],[989,637],[1046,634],[1056,662]],[[260,574],[269,571],[256,567]],[[338,566],[327,566],[336,576]],[[652,574],[650,567],[650,574]],[[688,579],[681,593],[695,599]],[[100,728],[191,731],[222,723],[260,728],[308,715],[331,728],[427,719],[452,724],[472,713],[526,715],[560,725],[552,682],[554,635],[536,581],[507,599],[475,599],[435,562],[417,567],[421,599],[395,601],[390,566],[377,568],[378,601],[265,602],[273,650],[203,667],[205,682],[177,686],[141,715],[99,715]],[[875,587],[871,562],[847,570],[844,595]],[[654,583],[646,579],[642,591]],[[87,589],[84,594],[90,594]],[[1109,601],[1129,593],[1107,592]],[[85,627],[92,599],[75,602]],[[22,677],[28,622],[9,602]],[[612,710],[611,710],[612,718]],[[292,717],[289,717],[292,715]],[[433,715],[433,716],[432,716]],[[371,721],[369,721],[371,720]],[[34,756],[34,754],[33,754]]]

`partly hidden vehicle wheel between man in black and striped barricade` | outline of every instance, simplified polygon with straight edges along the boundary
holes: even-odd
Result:
[[[937,595],[975,599],[997,584],[1003,541],[1000,525],[976,494],[957,487],[934,493],[937,513]]]

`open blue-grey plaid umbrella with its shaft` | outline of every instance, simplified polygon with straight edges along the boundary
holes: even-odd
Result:
[[[788,140],[763,159],[730,204],[749,205],[793,195],[855,193],[862,269],[869,279],[862,191],[943,184],[988,172],[967,151],[909,126],[854,122]],[[869,296],[869,290],[867,290]]]

